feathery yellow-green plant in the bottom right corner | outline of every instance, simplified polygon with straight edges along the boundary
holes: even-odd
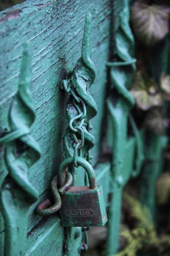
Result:
[[[126,239],[126,246],[115,256],[136,256],[136,253],[141,250],[142,252],[152,251],[155,256],[168,256],[170,236],[158,236],[149,209],[130,195],[125,194],[124,196],[136,219],[136,227],[121,232],[121,236]]]

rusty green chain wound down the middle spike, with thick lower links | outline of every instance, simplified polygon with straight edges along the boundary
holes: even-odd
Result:
[[[77,163],[77,157],[82,156],[82,147],[84,146],[84,130],[82,126],[84,124],[85,117],[87,115],[87,109],[84,101],[77,96],[77,94],[73,89],[73,86],[71,86],[71,79],[63,80],[61,82],[61,89],[64,89],[66,93],[70,93],[72,95],[73,97],[72,104],[78,113],[77,115],[70,118],[69,120],[69,128],[71,130],[72,138],[74,140],[73,165],[74,167],[77,168],[79,167]],[[78,133],[78,131],[80,131],[81,139],[77,138],[76,133]],[[62,188],[62,194],[64,194],[69,189],[69,187],[72,184],[72,180],[73,180],[73,177],[71,173],[67,172],[66,182]],[[57,181],[58,181],[58,177],[56,175],[51,182],[51,191],[53,194],[54,204],[51,207],[47,208],[48,206],[51,205],[51,202],[49,199],[45,199],[43,202],[39,203],[35,209],[38,215],[47,216],[60,210],[61,198],[60,198],[59,191],[57,189]]]

